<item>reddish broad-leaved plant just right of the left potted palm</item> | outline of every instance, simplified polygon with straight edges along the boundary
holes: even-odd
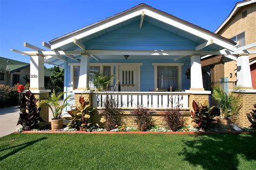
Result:
[[[84,97],[81,96],[79,97],[79,103],[79,108],[68,111],[72,118],[67,126],[76,128],[78,131],[87,131],[93,125],[90,118],[95,108],[90,106],[90,101],[85,101]]]

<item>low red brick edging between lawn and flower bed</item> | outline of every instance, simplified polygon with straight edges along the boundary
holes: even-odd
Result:
[[[15,132],[19,133],[19,132]],[[85,132],[85,131],[23,131],[21,133],[83,133],[83,134],[256,134],[256,132]]]

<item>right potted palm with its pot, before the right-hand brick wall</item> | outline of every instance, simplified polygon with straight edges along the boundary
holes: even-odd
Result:
[[[215,87],[213,89],[212,97],[218,102],[220,107],[220,117],[217,119],[219,127],[229,129],[231,127],[230,124],[232,119],[235,119],[241,109],[241,87],[234,87],[234,89],[229,92],[225,92],[220,89],[220,87]]]

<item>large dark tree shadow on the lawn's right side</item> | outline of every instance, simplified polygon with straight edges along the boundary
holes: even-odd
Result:
[[[197,135],[184,141],[182,155],[193,165],[205,169],[238,169],[241,158],[256,160],[256,135],[216,134]]]

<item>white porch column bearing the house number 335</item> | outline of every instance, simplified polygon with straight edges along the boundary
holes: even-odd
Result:
[[[30,90],[44,89],[44,57],[30,56]]]

